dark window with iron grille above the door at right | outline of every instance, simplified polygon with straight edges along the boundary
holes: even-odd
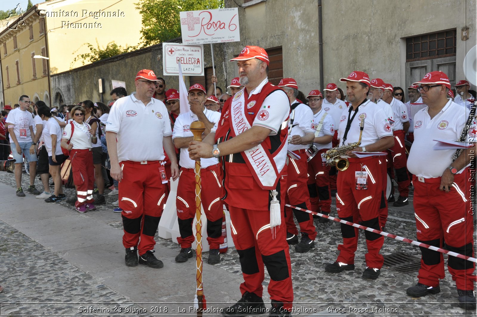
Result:
[[[456,56],[456,30],[417,35],[406,39],[406,62]]]

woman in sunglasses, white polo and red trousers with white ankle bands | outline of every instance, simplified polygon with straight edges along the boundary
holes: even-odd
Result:
[[[85,111],[82,106],[73,107],[71,113],[73,121],[64,127],[61,147],[70,151],[73,181],[76,185],[76,211],[86,212],[96,209],[93,205],[94,166],[91,148],[98,139],[90,125],[83,122]]]

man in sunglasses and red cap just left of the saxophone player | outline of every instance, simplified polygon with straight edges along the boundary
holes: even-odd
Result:
[[[332,115],[321,106],[323,95],[318,89],[312,90],[307,98],[315,122],[313,143],[318,150],[318,153],[308,162],[311,210],[329,215],[331,211],[330,166],[324,164],[321,155],[332,147],[334,120]],[[318,222],[329,222],[329,220],[320,217]]]

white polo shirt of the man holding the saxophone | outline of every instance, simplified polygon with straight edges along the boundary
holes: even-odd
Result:
[[[383,101],[384,102],[384,101]],[[386,103],[385,103],[386,104]],[[386,104],[388,105],[388,104]],[[389,106],[389,105],[388,105]],[[350,105],[352,108],[353,106]],[[352,108],[353,109],[353,108]],[[354,111],[351,110],[351,116]],[[340,146],[343,145],[343,136],[350,116],[349,109],[345,109],[340,120],[340,129],[338,130],[338,138],[340,139]],[[363,137],[361,139],[361,146],[367,146],[375,143],[382,137],[393,136],[393,129],[389,124],[387,114],[383,107],[373,103],[371,100],[366,101],[359,106],[358,113],[351,123],[350,130],[346,137],[345,144],[357,142],[360,134],[361,119],[364,117]]]

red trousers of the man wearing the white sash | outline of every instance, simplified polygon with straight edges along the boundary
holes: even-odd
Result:
[[[232,238],[237,250],[247,250],[255,247],[256,261],[258,263],[259,273],[247,275],[243,274],[244,282],[240,284],[242,295],[247,291],[255,293],[262,297],[264,279],[264,264],[261,255],[271,255],[278,252],[284,252],[285,260],[276,263],[278,271],[288,271],[288,277],[274,281],[270,279],[268,292],[270,299],[284,303],[285,309],[290,309],[293,302],[293,286],[291,283],[291,264],[288,243],[286,242],[285,226],[277,226],[273,230],[275,237],[272,236],[270,228],[262,229],[270,224],[270,211],[246,210],[230,206],[230,219],[233,226]],[[282,221],[283,213],[282,213]],[[260,231],[262,229],[262,231]],[[258,238],[257,238],[258,236]],[[244,259],[245,260],[245,259]],[[272,276],[276,272],[269,272]]]

